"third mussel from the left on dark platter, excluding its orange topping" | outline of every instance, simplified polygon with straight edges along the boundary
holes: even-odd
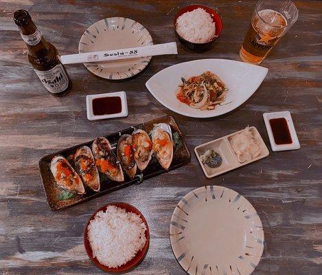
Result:
[[[113,168],[118,171],[117,175],[113,175],[111,173],[111,170],[102,171],[100,170],[100,166],[97,165],[97,168],[101,173],[104,173],[109,179],[112,179],[113,181],[124,181],[121,164],[119,164],[117,157],[112,151],[112,146],[110,142],[108,142],[106,137],[97,137],[93,142],[92,150],[95,162],[97,162],[97,159],[106,159],[108,161],[108,164],[113,166]]]

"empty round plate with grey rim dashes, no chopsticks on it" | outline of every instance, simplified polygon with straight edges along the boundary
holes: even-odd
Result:
[[[251,203],[222,186],[204,186],[178,203],[170,223],[174,256],[191,275],[249,275],[264,249]]]

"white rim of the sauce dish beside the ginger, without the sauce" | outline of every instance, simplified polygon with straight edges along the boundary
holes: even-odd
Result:
[[[273,151],[286,151],[286,150],[295,150],[301,148],[299,144],[299,139],[297,138],[297,132],[295,131],[295,126],[293,124],[292,116],[289,111],[280,111],[274,113],[263,113],[263,118],[268,133],[269,142],[271,142],[271,147]],[[269,120],[272,118],[285,118],[288,122],[288,129],[290,129],[290,136],[292,137],[291,144],[276,144]]]

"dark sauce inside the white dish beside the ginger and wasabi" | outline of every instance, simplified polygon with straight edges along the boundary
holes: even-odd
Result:
[[[275,144],[291,144],[292,137],[290,135],[290,129],[288,129],[288,122],[286,118],[272,118],[269,120]]]

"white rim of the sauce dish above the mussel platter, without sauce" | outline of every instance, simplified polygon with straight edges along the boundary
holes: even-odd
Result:
[[[94,115],[93,113],[93,99],[95,98],[106,98],[111,96],[119,96],[122,102],[121,113],[113,113],[111,115]],[[86,109],[87,109],[87,119],[88,120],[104,120],[106,118],[122,118],[128,115],[128,103],[126,100],[125,91],[116,91],[115,93],[106,94],[94,94],[86,97]]]

